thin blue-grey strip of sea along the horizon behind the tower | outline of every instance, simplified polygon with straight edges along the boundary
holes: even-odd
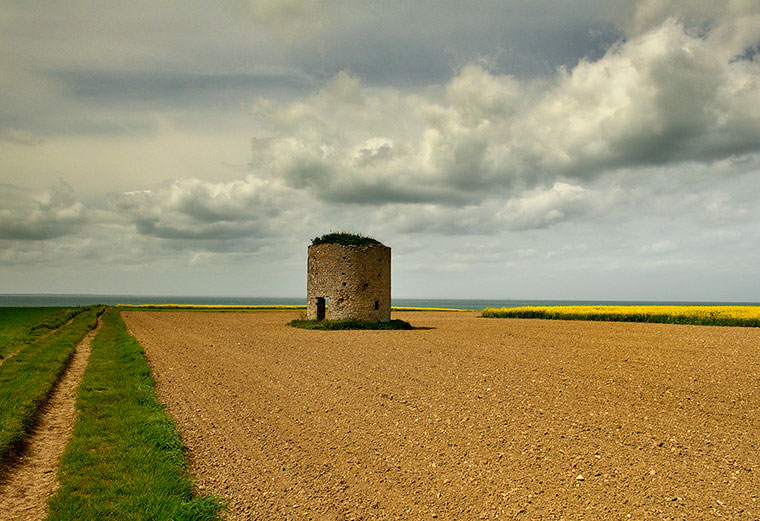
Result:
[[[119,295],[89,293],[2,293],[0,307],[87,306],[93,304],[195,304],[305,305],[306,297],[241,297],[220,295]],[[604,300],[604,299],[447,299],[393,298],[394,307],[431,307],[481,310],[487,307],[630,305],[630,306],[760,306],[760,302],[687,300]]]

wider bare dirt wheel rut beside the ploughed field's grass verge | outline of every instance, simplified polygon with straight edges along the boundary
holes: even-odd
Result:
[[[23,452],[0,476],[0,521],[44,519],[58,488],[58,463],[74,428],[76,392],[90,358],[90,343],[100,329],[79,343],[63,376],[42,408]]]

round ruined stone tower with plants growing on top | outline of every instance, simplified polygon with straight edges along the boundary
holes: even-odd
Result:
[[[349,233],[317,237],[309,246],[306,318],[388,322],[391,249]]]

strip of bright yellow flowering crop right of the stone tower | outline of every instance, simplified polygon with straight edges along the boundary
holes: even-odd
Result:
[[[486,308],[486,318],[544,318],[760,327],[760,306],[546,306]]]

